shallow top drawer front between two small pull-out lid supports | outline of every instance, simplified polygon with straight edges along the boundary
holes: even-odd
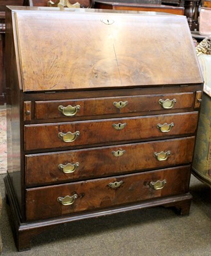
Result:
[[[78,100],[47,100],[35,102],[35,118],[102,116],[120,113],[141,113],[169,109],[191,109],[194,93],[168,93]]]

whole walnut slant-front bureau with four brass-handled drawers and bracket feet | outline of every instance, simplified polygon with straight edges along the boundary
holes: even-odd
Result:
[[[6,20],[18,250],[74,220],[156,205],[189,214],[203,79],[185,17],[10,7]]]

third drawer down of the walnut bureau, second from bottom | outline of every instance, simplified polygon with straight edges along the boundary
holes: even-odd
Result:
[[[188,164],[194,137],[26,155],[26,185],[92,179]]]

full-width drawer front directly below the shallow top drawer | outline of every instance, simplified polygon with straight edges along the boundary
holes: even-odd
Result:
[[[198,112],[24,126],[25,150],[194,134]],[[165,125],[166,124],[166,125]],[[163,126],[164,125],[164,126]]]

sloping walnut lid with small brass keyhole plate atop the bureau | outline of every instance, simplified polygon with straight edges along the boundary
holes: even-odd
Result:
[[[147,13],[15,13],[26,91],[202,83],[186,18]]]

